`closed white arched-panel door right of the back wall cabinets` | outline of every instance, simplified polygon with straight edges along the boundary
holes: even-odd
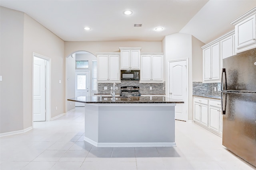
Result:
[[[188,78],[187,59],[168,61],[168,97],[183,100],[184,104],[176,104],[175,119],[188,120]]]

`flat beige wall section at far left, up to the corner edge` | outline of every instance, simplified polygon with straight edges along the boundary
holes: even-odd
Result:
[[[24,129],[23,31],[24,13],[0,7],[0,133]]]

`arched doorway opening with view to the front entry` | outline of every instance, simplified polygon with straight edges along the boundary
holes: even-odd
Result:
[[[96,56],[88,51],[76,51],[66,57],[66,78],[67,98],[93,96],[97,92]],[[78,105],[68,102],[67,111]]]

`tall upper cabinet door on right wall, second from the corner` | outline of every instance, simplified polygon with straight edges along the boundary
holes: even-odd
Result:
[[[211,80],[220,80],[220,44],[216,43],[212,48],[212,77]]]

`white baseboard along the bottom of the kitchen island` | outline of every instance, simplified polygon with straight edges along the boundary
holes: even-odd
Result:
[[[84,137],[84,141],[94,145],[95,147],[176,147],[175,142],[156,142],[156,143],[98,143]]]

